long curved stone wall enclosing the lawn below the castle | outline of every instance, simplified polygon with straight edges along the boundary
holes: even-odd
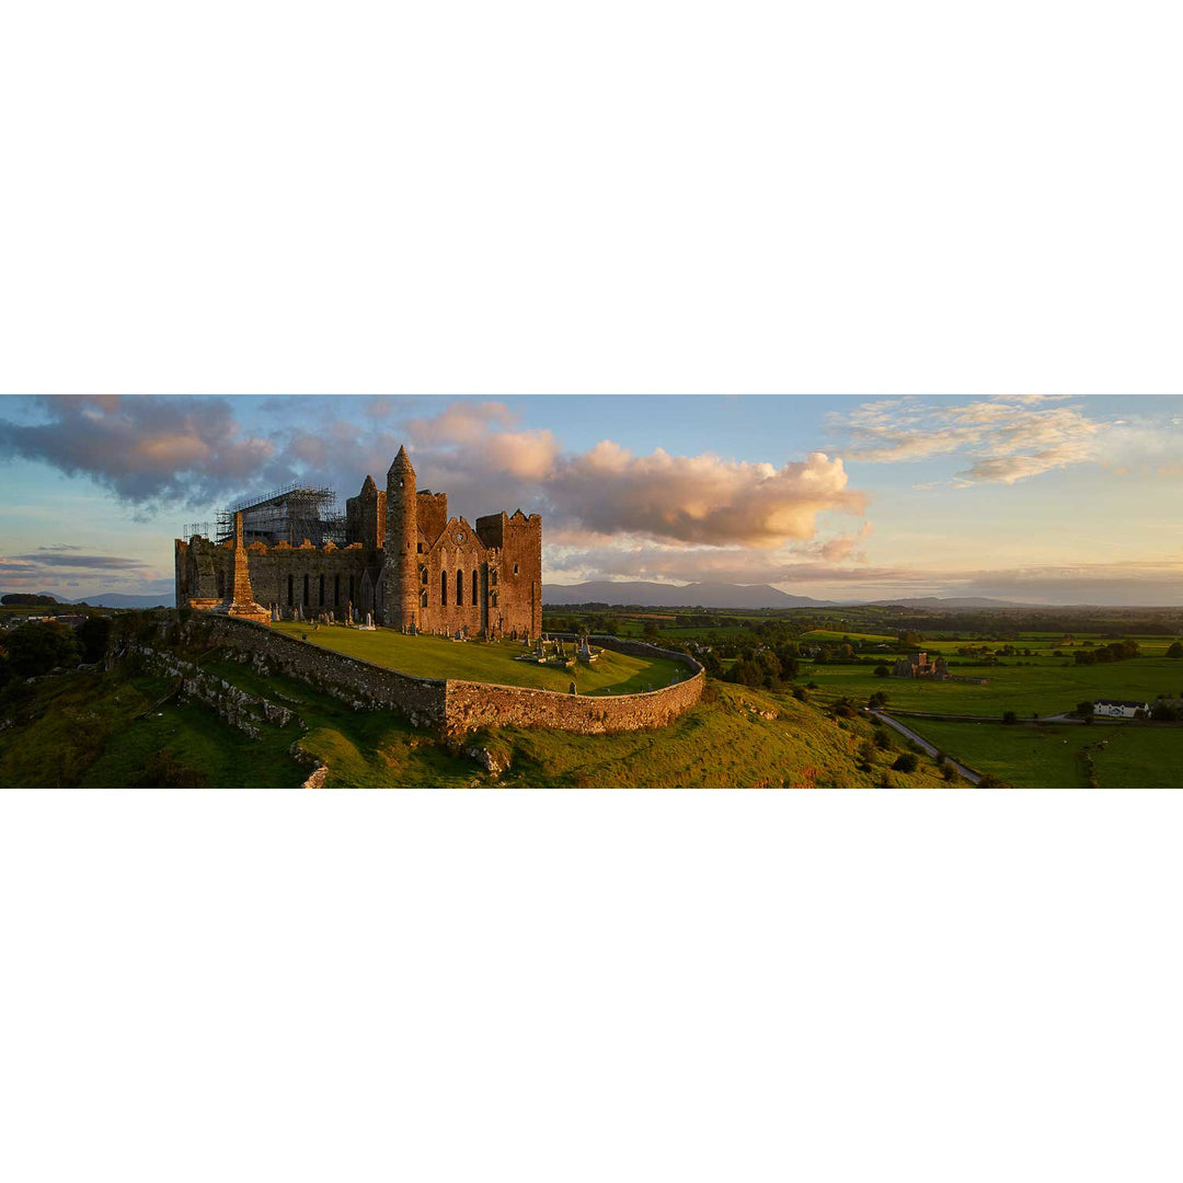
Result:
[[[595,636],[605,648],[640,657],[664,657],[685,665],[684,681],[642,694],[562,694],[552,690],[489,683],[412,678],[383,666],[272,632],[266,625],[194,613],[187,638],[263,654],[283,673],[319,686],[355,710],[387,707],[415,726],[459,738],[487,726],[555,728],[582,735],[638,731],[672,723],[703,696],[703,667],[685,653],[642,641]]]

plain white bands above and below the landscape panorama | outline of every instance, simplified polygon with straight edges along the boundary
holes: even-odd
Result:
[[[1171,5],[0,7],[7,392],[1183,389]],[[0,796],[5,1179],[1177,1179],[1178,794]]]

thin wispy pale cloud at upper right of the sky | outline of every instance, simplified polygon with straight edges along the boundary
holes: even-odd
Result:
[[[953,487],[1015,484],[1101,458],[1107,425],[1077,407],[1056,406],[1064,397],[1033,394],[955,405],[888,399],[828,421],[853,444],[845,453],[849,460],[892,464],[964,453],[971,464],[956,474]]]

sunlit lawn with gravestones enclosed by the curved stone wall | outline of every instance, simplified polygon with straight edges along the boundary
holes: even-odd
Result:
[[[311,625],[292,621],[271,627],[304,638],[310,645],[416,678],[457,678],[561,693],[570,689],[574,679],[581,694],[635,694],[668,686],[675,673],[679,678],[689,674],[686,666],[668,658],[639,658],[612,649],[605,649],[590,666],[578,661],[574,670],[564,670],[516,661],[525,652],[521,641],[450,641],[442,636],[406,636],[388,628],[370,633],[343,626],[313,631]]]

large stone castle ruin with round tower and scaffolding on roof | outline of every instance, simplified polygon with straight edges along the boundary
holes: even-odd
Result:
[[[306,508],[305,517],[292,516],[289,506],[299,504],[286,490],[234,512],[232,537],[177,538],[176,606],[252,619],[259,612],[270,619],[272,606],[282,619],[373,615],[408,633],[542,632],[539,515],[492,513],[476,525],[448,517],[447,493],[416,490],[405,447],[386,474],[384,491],[368,476],[345,502],[343,531],[312,521]]]

